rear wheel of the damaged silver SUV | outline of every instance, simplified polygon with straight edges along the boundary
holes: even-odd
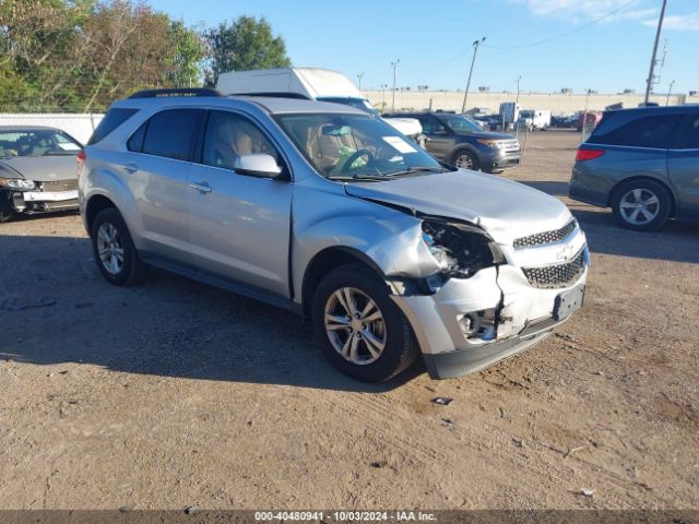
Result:
[[[115,286],[138,284],[145,277],[145,264],[133,246],[121,214],[114,207],[99,212],[92,225],[92,248],[102,275]]]

